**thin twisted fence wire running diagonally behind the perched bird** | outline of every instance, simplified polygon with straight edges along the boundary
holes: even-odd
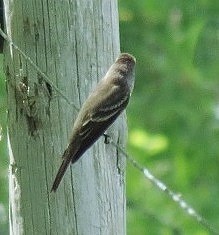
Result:
[[[36,71],[43,77],[43,79],[48,82],[54,90],[56,90],[66,101],[69,105],[73,105],[73,107],[78,111],[79,108],[72,102],[69,101],[69,99],[63,94],[63,92],[58,89],[58,87],[53,84],[50,80],[50,78],[41,71],[41,69],[18,47],[16,46],[9,37],[2,31],[0,28],[0,35],[10,44],[13,46],[15,50],[17,50],[32,66]],[[104,134],[104,137],[108,137]],[[165,192],[171,200],[173,200],[175,203],[177,203],[180,208],[182,208],[189,216],[193,217],[198,223],[200,223],[202,226],[204,226],[209,232],[219,235],[219,232],[207,222],[206,219],[204,219],[201,215],[199,215],[181,196],[181,194],[173,192],[169,187],[167,187],[162,181],[158,180],[146,167],[143,167],[140,165],[136,160],[134,160],[128,153],[117,143],[115,143],[111,138],[109,143],[111,143],[114,147],[116,147],[123,156],[126,157],[126,159],[131,163],[132,166],[134,166],[138,171],[142,172],[144,177],[148,179],[153,185],[155,185],[158,189]]]

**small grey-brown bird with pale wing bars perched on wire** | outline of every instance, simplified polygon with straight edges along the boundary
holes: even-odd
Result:
[[[70,163],[75,163],[128,105],[134,88],[135,64],[133,55],[121,53],[82,105],[51,192],[57,190]]]

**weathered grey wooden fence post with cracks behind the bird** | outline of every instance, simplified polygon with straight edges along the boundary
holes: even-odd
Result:
[[[6,33],[80,107],[119,54],[116,0],[5,0]],[[77,110],[5,43],[10,234],[125,234],[125,161],[101,137],[56,193]],[[108,130],[124,145],[124,114]]]

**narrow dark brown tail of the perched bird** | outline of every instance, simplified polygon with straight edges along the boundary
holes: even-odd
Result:
[[[67,168],[68,168],[68,165],[71,162],[71,157],[68,156],[67,151],[68,151],[68,149],[65,150],[65,153],[63,154],[62,165],[59,167],[58,173],[56,175],[56,178],[55,178],[53,185],[52,185],[52,188],[51,188],[51,192],[52,191],[55,192],[57,190],[57,188],[58,188],[58,186],[59,186]],[[65,156],[65,155],[67,155],[67,156]]]

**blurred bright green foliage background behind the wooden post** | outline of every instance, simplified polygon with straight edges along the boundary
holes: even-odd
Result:
[[[121,51],[137,58],[128,151],[219,231],[219,4],[119,0]],[[0,234],[7,232],[0,74]],[[210,234],[127,165],[127,234]]]

